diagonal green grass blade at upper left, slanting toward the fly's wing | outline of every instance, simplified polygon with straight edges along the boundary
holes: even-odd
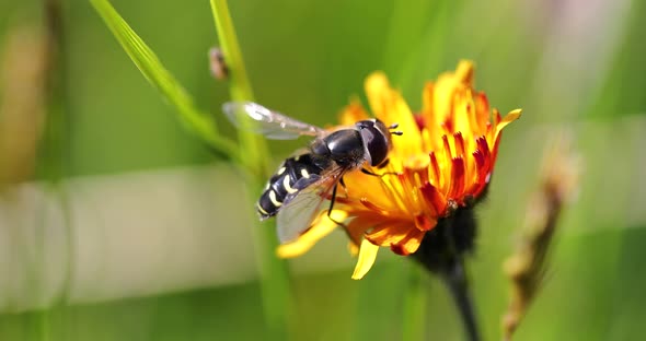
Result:
[[[217,153],[237,160],[235,144],[218,133],[216,120],[197,109],[177,80],[164,68],[154,52],[132,31],[107,0],[90,0],[115,38],[137,66],[141,74],[175,107],[180,121]]]

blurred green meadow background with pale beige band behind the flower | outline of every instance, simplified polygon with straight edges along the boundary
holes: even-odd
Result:
[[[113,4],[234,138],[219,109],[227,83],[208,70],[208,49],[218,44],[208,1]],[[1,42],[19,27],[42,27],[42,8],[0,2]],[[62,9],[62,115],[47,121],[60,133],[42,145],[36,175],[16,186],[60,175],[72,200],[62,204],[64,223],[49,230],[47,209],[25,209],[3,195],[0,340],[264,339],[242,178],[185,132],[89,2],[64,0]],[[426,80],[474,60],[476,89],[494,107],[523,108],[505,130],[491,196],[478,209],[470,278],[484,339],[500,339],[508,299],[501,262],[538,188],[543,150],[564,133],[581,157],[580,187],[517,339],[643,339],[645,1],[251,0],[231,1],[230,10],[256,101],[315,125],[334,122],[353,96],[365,98],[371,71],[385,71],[418,108]],[[2,94],[10,86],[5,81]],[[274,163],[304,143],[270,142]],[[141,189],[140,197],[128,188]],[[25,237],[26,225],[36,237]],[[168,233],[163,243],[157,227]],[[184,231],[191,243],[177,237]],[[70,236],[53,260],[45,246],[58,233]],[[291,261],[292,338],[401,339],[406,279],[415,270],[387,254],[358,282],[349,278],[354,259],[341,234]],[[155,263],[142,275],[145,260]],[[139,284],[130,285],[135,278]],[[427,339],[462,340],[445,287],[431,277],[422,284]]]

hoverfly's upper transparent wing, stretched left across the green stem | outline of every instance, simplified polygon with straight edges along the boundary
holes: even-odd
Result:
[[[300,136],[318,137],[325,132],[319,127],[301,122],[253,102],[228,102],[222,105],[222,110],[239,128],[242,126],[243,117],[250,117],[257,122],[253,130],[267,139],[293,140]]]

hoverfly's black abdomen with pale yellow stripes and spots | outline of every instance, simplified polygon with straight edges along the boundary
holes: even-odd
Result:
[[[315,183],[321,173],[327,167],[328,162],[311,154],[301,154],[289,157],[282,162],[278,170],[269,178],[265,191],[257,203],[261,219],[267,219],[278,213],[284,204],[287,204],[299,190]]]

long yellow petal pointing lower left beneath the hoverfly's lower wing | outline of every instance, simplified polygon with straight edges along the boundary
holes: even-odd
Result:
[[[347,216],[348,214],[345,211],[332,211],[332,219],[337,222],[343,222]],[[327,216],[327,212],[323,211],[312,227],[305,231],[298,239],[279,245],[276,249],[276,255],[280,258],[298,257],[309,251],[316,242],[328,235],[336,226],[336,223]]]

